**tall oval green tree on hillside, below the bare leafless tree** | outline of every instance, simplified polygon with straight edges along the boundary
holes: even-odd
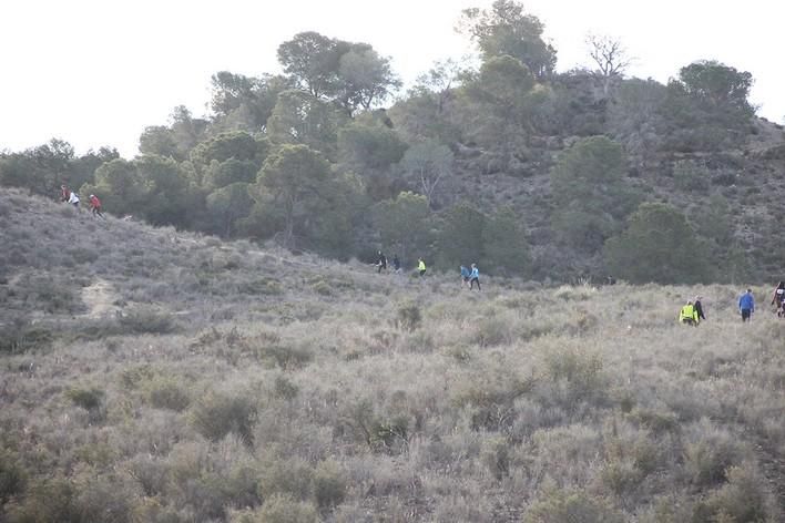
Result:
[[[562,243],[584,253],[600,250],[634,208],[626,185],[624,152],[605,136],[578,141],[551,170],[553,228]]]

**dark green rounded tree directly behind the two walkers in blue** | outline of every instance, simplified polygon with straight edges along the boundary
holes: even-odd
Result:
[[[479,263],[482,259],[482,230],[486,216],[471,204],[459,202],[440,216],[437,260],[441,268]]]

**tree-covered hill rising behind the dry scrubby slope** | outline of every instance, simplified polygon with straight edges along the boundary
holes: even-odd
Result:
[[[641,176],[663,154],[738,150],[754,130],[748,72],[701,61],[666,85],[626,79],[621,42],[593,37],[594,63],[557,73],[543,24],[509,0],[461,27],[477,65],[437,63],[405,93],[370,44],[296,34],[278,48],[284,74],[214,74],[210,115],[176,107],[133,160],[52,141],[0,155],[0,182],[49,197],[65,183],[116,215],[340,259],[381,248],[560,280],[759,274],[704,165],[665,173],[701,194],[699,217]]]

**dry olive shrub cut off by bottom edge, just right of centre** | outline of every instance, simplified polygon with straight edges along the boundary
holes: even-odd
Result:
[[[623,523],[622,514],[585,492],[551,489],[538,496],[524,523]]]

